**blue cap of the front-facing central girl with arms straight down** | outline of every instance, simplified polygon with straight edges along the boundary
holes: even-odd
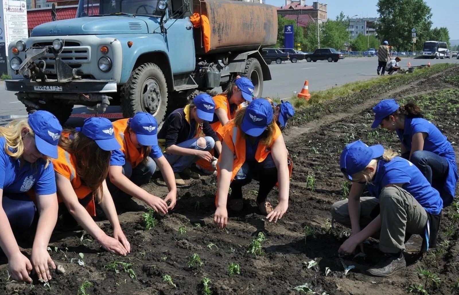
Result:
[[[264,98],[254,99],[246,108],[241,130],[250,136],[260,136],[273,121],[273,106]]]

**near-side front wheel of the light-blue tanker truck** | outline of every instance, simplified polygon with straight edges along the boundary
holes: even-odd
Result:
[[[151,113],[162,122],[168,106],[168,85],[161,68],[147,62],[132,71],[121,88],[121,109],[125,118],[137,112]]]

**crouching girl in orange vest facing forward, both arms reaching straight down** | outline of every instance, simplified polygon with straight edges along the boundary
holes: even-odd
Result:
[[[273,107],[264,98],[253,100],[224,126],[222,135],[224,143],[218,158],[215,223],[219,228],[226,226],[227,201],[229,209],[242,210],[242,187],[252,178],[260,182],[259,210],[269,221],[276,222],[287,211],[290,183],[287,149],[274,119]],[[279,204],[273,209],[266,198],[277,182]]]

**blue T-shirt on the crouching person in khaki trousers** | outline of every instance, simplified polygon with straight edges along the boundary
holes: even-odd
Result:
[[[402,183],[402,188],[410,193],[416,201],[432,215],[442,211],[443,200],[440,193],[433,188],[421,171],[407,159],[395,157],[391,161],[378,161],[373,182],[368,190],[375,198],[379,198],[382,189],[388,184]]]

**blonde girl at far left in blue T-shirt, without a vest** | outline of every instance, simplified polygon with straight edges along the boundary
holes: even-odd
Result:
[[[48,157],[57,158],[61,131],[56,117],[45,111],[0,127],[0,246],[11,278],[19,282],[32,283],[31,271],[48,281],[50,268],[56,268],[46,250],[57,221],[56,180]],[[35,232],[30,260],[13,234],[28,230]]]

